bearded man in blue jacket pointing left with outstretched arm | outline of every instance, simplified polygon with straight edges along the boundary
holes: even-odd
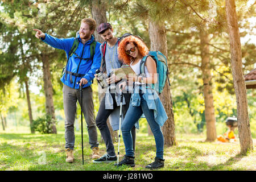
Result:
[[[63,82],[63,105],[65,113],[65,148],[67,152],[66,162],[74,162],[73,148],[75,145],[74,122],[76,114],[76,102],[82,104],[82,110],[85,116],[85,121],[88,128],[89,144],[93,150],[92,158],[99,158],[98,140],[97,140],[97,126],[94,119],[94,105],[92,95],[92,81],[94,74],[101,65],[100,43],[96,42],[93,37],[93,32],[96,29],[96,21],[94,19],[82,19],[79,30],[79,44],[75,53],[69,57],[69,52],[73,48],[74,38],[58,39],[43,33],[41,30],[36,31],[36,38],[49,44],[54,48],[63,49],[68,57],[67,65],[64,74],[61,77]],[[94,55],[91,44],[96,45],[94,48]],[[77,82],[80,81],[80,84]],[[82,87],[83,97],[80,99],[79,86]]]

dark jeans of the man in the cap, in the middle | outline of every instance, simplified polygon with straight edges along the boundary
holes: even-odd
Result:
[[[113,98],[113,109],[105,109],[105,96],[104,98],[102,98],[100,107],[98,109],[98,114],[96,117],[96,125],[98,127],[98,129],[101,132],[102,138],[104,139],[104,142],[106,144],[106,152],[110,155],[110,156],[115,156],[115,149],[114,149],[114,145],[112,142],[112,137],[109,131],[109,127],[107,125],[107,120],[109,115],[114,111],[115,108],[117,108],[117,102],[115,101],[115,94],[111,94],[112,98]],[[125,118],[126,112],[129,108],[129,104],[130,104],[130,98],[131,98],[131,94],[130,93],[123,93],[123,98],[125,98],[125,105],[122,105],[122,114],[123,117]],[[135,126],[132,127],[131,129],[131,133],[132,133],[132,138],[133,138],[133,150],[135,151],[135,138],[136,138],[136,131],[135,131]]]

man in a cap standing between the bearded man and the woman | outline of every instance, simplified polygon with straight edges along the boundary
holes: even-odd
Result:
[[[115,75],[110,76],[110,73],[113,71],[113,69],[120,68],[122,66],[122,61],[118,59],[117,52],[119,41],[121,41],[121,39],[118,39],[117,37],[113,36],[113,28],[110,23],[101,23],[100,26],[97,28],[97,32],[101,35],[101,38],[105,40],[105,42],[102,43],[100,47],[102,57],[101,70],[109,76],[107,82],[111,85],[115,85],[114,87],[109,86],[109,88],[106,90],[105,96],[101,101],[100,107],[98,109],[98,114],[96,117],[96,125],[100,130],[102,138],[104,139],[104,142],[106,144],[107,153],[101,156],[100,159],[93,160],[93,163],[103,163],[114,162],[117,160],[114,145],[112,142],[112,137],[109,131],[109,127],[107,125],[107,119],[110,116],[110,114],[113,114],[114,110],[120,106],[120,93],[118,93],[119,90],[115,90],[115,88],[118,88],[118,86],[116,85],[121,80],[120,78],[117,78]],[[128,92],[123,93],[123,97],[125,98],[123,100],[122,106],[123,117],[125,117],[125,114],[129,108],[131,98],[131,90],[127,91]],[[133,135],[133,148],[135,151],[135,127],[133,127],[133,129],[131,130],[131,133]]]

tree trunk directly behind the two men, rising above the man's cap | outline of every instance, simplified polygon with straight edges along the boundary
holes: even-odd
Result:
[[[105,1],[97,1],[92,2],[92,18],[96,20],[97,27],[100,26],[101,23],[108,22],[108,19],[106,18],[106,3]],[[100,34],[98,34],[97,29],[94,31],[94,36],[96,41],[102,43],[104,40],[101,38]],[[101,86],[98,86],[98,100],[101,103],[102,98],[104,97],[105,91],[102,90]],[[110,134],[112,136],[113,142],[116,140],[117,133],[113,131],[109,119],[107,120],[107,124],[110,130]]]

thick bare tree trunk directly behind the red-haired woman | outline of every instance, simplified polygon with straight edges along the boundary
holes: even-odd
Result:
[[[166,39],[166,28],[164,23],[153,22],[150,19],[148,20],[148,34],[150,36],[150,50],[151,51],[160,51],[168,59],[167,53],[167,39]],[[163,126],[163,135],[164,135],[164,144],[173,146],[177,144],[175,137],[175,123],[174,123],[174,111],[172,110],[172,96],[171,88],[166,82],[163,92],[160,94],[160,100],[166,110],[168,115],[167,121]]]

